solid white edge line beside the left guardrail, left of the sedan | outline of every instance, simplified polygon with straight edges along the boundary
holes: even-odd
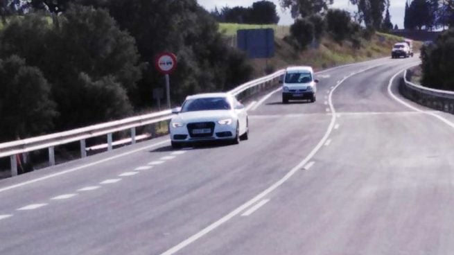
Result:
[[[101,163],[104,163],[104,162],[107,162],[107,161],[111,161],[112,159],[118,159],[120,157],[125,157],[125,156],[128,156],[128,155],[131,155],[135,152],[139,152],[141,150],[146,150],[146,149],[149,149],[149,148],[153,148],[153,147],[156,147],[156,146],[160,146],[161,144],[164,144],[164,143],[168,143],[170,142],[171,140],[170,139],[167,139],[166,141],[161,141],[159,143],[153,143],[152,145],[150,146],[144,146],[144,147],[141,147],[141,148],[138,148],[136,150],[130,150],[128,152],[124,152],[124,153],[121,153],[120,155],[116,155],[116,156],[112,156],[112,157],[108,157],[106,159],[101,159],[101,160],[98,160],[98,161],[94,161],[92,163],[89,163],[89,164],[85,164],[85,165],[82,165],[82,166],[78,166],[76,168],[71,168],[71,169],[68,169],[68,170],[63,170],[61,172],[58,172],[58,173],[53,173],[51,175],[46,175],[44,177],[40,177],[40,178],[37,178],[37,179],[30,179],[30,181],[26,181],[26,182],[21,182],[19,184],[14,184],[14,185],[11,185],[11,186],[6,186],[5,188],[0,188],[0,193],[1,192],[4,192],[4,191],[9,191],[13,188],[19,188],[21,186],[26,186],[28,184],[33,184],[35,182],[41,182],[41,181],[44,181],[45,179],[51,179],[53,177],[57,177],[57,176],[60,176],[60,175],[65,175],[67,173],[72,173],[72,172],[75,172],[77,170],[80,170],[80,169],[83,169],[83,168],[87,168],[89,166],[96,166],[98,164],[101,164]]]

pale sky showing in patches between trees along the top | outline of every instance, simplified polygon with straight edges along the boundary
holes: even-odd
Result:
[[[252,3],[258,0],[198,0],[198,3],[207,10],[213,10],[216,6],[222,8],[223,6],[252,6]],[[279,12],[279,24],[290,25],[293,24],[293,19],[289,10],[282,10],[279,6],[279,0],[273,1]],[[331,8],[340,8],[353,12],[357,10],[356,6],[352,6],[349,0],[334,0]],[[390,15],[392,24],[397,24],[399,28],[403,28],[403,14],[405,12],[405,0],[391,0]]]

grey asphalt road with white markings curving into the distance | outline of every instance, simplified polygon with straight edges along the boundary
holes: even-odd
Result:
[[[272,94],[238,146],[164,137],[2,180],[0,254],[451,254],[454,118],[391,80],[418,61]]]

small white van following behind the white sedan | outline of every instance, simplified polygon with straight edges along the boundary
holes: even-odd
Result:
[[[283,76],[282,103],[288,100],[317,100],[317,83],[312,67],[288,67]]]

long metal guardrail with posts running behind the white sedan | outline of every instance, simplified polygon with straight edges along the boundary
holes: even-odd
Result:
[[[238,99],[247,98],[248,96],[252,96],[259,91],[268,89],[268,87],[274,85],[274,81],[282,76],[284,71],[285,70],[282,69],[268,76],[246,82],[245,84],[232,89],[229,93],[233,94]],[[85,150],[86,139],[107,135],[107,150],[112,150],[112,134],[114,132],[130,130],[131,143],[134,144],[136,143],[136,128],[144,125],[159,123],[161,121],[168,121],[171,118],[172,112],[170,109],[167,109],[161,112],[124,118],[119,121],[110,121],[107,123],[91,125],[85,128],[0,143],[0,158],[10,157],[11,175],[15,176],[17,175],[17,155],[21,153],[47,148],[49,150],[49,165],[53,166],[55,165],[55,146],[61,146],[67,143],[79,141],[80,157],[87,157],[87,152]]]

